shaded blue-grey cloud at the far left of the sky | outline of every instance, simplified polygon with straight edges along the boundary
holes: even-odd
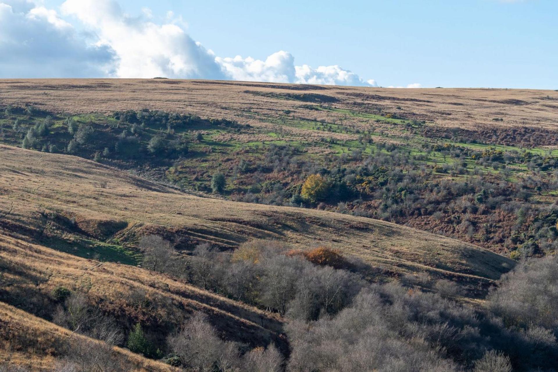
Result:
[[[56,11],[25,0],[0,0],[0,55],[0,78],[106,76],[114,58]]]

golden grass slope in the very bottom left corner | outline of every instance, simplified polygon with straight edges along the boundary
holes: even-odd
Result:
[[[69,350],[76,341],[101,342],[74,334],[4,302],[0,302],[0,326],[0,362],[32,370],[53,370],[58,362],[58,355],[53,355],[55,348],[56,352],[60,352]],[[112,347],[111,351],[114,359],[123,365],[133,366],[138,372],[179,370],[121,347]]]

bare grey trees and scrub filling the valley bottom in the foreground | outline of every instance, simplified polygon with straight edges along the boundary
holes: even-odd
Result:
[[[360,274],[358,262],[352,270],[335,269],[339,262],[347,265],[347,258],[324,247],[300,254],[265,241],[234,252],[200,245],[182,260],[169,258],[168,243],[156,236],[142,245],[150,250],[146,263],[166,259],[154,269],[279,313],[287,321],[288,351],[272,343],[251,349],[222,339],[201,313],[157,341],[146,337],[141,323],[122,330],[109,315],[89,307],[86,294],[60,288],[51,294],[60,304],[53,321],[103,340],[99,350],[122,345],[193,371],[558,368],[558,327],[554,313],[548,313],[558,284],[554,258],[522,263],[502,279],[486,306],[474,309],[457,302],[458,293],[447,283],[425,286],[431,279],[424,276],[407,277],[403,285],[373,284]],[[73,359],[64,362],[69,371],[90,370],[84,366],[102,355],[96,349],[79,351],[79,345]]]

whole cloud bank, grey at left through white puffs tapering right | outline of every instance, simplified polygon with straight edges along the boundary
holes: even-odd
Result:
[[[0,0],[0,78],[164,76],[378,86],[338,65],[297,66],[286,51],[265,60],[215,56],[172,13],[158,24],[150,9],[131,17],[115,0],[66,0],[60,10]]]

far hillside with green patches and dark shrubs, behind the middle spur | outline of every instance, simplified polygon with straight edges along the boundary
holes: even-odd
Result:
[[[518,259],[556,249],[557,99],[538,90],[2,80],[0,142],[197,195],[213,194],[222,174],[227,200],[370,217]],[[302,195],[316,174],[325,191]]]

